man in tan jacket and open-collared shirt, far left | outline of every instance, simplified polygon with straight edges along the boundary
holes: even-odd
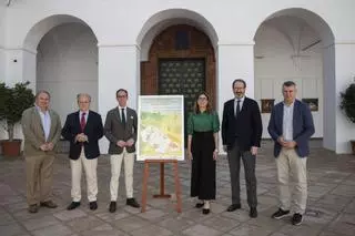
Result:
[[[60,140],[59,115],[49,109],[50,94],[39,91],[36,106],[22,113],[24,135],[23,153],[27,172],[27,202],[29,212],[37,213],[40,206],[55,208],[52,197],[54,150]]]

